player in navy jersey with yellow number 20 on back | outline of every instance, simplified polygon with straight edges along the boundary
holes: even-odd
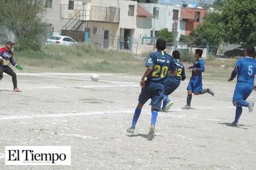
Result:
[[[127,132],[134,133],[135,125],[140,117],[140,112],[143,105],[151,99],[151,123],[149,130],[149,140],[155,137],[155,123],[157,122],[158,111],[162,104],[162,96],[164,92],[164,81],[168,73],[176,74],[176,65],[173,59],[165,50],[166,42],[159,38],[156,43],[157,51],[150,53],[145,66],[147,67],[144,75],[140,79],[142,87],[138,104],[135,109],[132,126],[127,129]]]

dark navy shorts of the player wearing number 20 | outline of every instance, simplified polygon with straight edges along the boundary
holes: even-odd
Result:
[[[139,95],[139,103],[144,105],[149,99],[151,99],[150,105],[154,110],[159,111],[162,104],[164,86],[162,83],[155,83],[153,81],[145,82],[145,87],[141,89]]]

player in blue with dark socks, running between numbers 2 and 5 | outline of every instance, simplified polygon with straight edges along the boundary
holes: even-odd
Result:
[[[212,96],[214,96],[214,92],[211,89],[203,89],[203,76],[202,73],[204,72],[204,59],[202,58],[203,50],[196,49],[194,52],[194,60],[193,66],[190,66],[188,69],[192,69],[192,76],[190,78],[190,82],[188,83],[188,96],[186,97],[186,105],[182,109],[191,109],[191,99],[192,93],[194,95],[204,94],[208,92]]]

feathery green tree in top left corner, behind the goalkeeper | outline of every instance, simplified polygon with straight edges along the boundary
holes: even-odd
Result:
[[[11,30],[15,37],[15,49],[40,50],[40,33],[43,32],[42,17],[44,0],[2,0],[0,22]]]

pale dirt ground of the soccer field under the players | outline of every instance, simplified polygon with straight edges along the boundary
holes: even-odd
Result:
[[[189,74],[189,73],[188,73]],[[188,79],[171,94],[168,112],[159,112],[156,136],[147,140],[151,119],[145,104],[134,135],[126,132],[140,93],[140,76],[17,73],[0,81],[0,169],[255,169],[256,116],[247,108],[231,127],[235,81],[206,82],[215,96],[193,96]],[[190,75],[188,75],[189,77]],[[248,101],[255,101],[255,93]],[[6,166],[5,146],[71,146],[71,166]]]

